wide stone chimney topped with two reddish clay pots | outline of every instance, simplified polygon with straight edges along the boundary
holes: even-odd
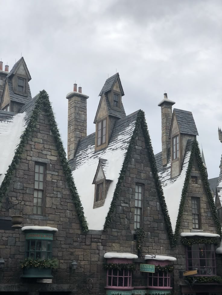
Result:
[[[77,85],[74,84],[74,91],[66,95],[68,99],[68,161],[74,158],[75,152],[83,137],[87,135],[87,98],[81,93],[82,88],[77,92]]]

